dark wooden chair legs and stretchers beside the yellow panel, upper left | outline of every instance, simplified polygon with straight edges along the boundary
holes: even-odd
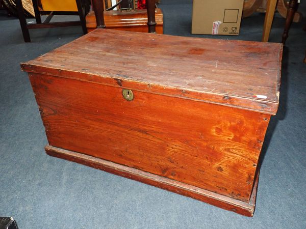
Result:
[[[82,4],[82,0],[75,0],[78,11],[41,11],[38,7],[38,0],[32,0],[33,8],[35,12],[36,24],[28,24],[25,20],[23,13],[23,6],[21,0],[16,0],[16,7],[18,11],[19,22],[22,30],[24,42],[31,42],[29,29],[32,28],[50,28],[50,27],[64,27],[82,25],[83,33],[87,34],[85,16],[89,11],[89,6]],[[41,15],[48,15],[42,22]],[[63,21],[63,22],[50,22],[54,15],[79,15],[80,21]]]

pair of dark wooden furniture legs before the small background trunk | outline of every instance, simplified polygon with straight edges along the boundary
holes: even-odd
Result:
[[[93,10],[96,17],[97,28],[105,28],[103,0],[92,0]],[[148,32],[156,33],[155,0],[147,0]]]

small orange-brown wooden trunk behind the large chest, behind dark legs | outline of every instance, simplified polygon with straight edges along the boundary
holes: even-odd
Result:
[[[116,30],[148,32],[148,17],[146,10],[111,10],[104,11],[104,20],[107,28]],[[163,34],[163,12],[155,9],[156,33]],[[90,11],[86,16],[87,31],[91,32],[96,28],[94,11]]]

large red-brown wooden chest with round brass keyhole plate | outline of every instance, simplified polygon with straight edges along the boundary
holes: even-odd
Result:
[[[281,60],[282,44],[100,29],[21,66],[47,154],[252,216]]]

